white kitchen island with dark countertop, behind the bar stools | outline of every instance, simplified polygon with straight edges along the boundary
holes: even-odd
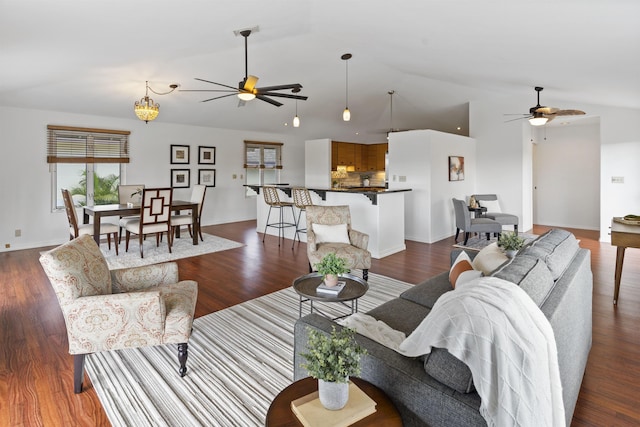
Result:
[[[264,232],[269,206],[264,202],[259,185],[247,185],[258,193],[256,198],[257,226],[256,231]],[[293,201],[291,190],[295,185],[276,185],[280,200]],[[313,203],[325,206],[348,205],[351,212],[351,227],[369,235],[369,247],[373,258],[384,258],[388,255],[406,249],[404,243],[404,195],[411,189],[389,190],[383,187],[349,187],[349,188],[308,188]],[[272,216],[277,213],[272,213]],[[291,211],[284,211],[284,221],[294,222]],[[298,209],[295,208],[295,215]],[[305,228],[304,214],[300,220],[301,228]],[[293,239],[295,229],[285,228],[285,237]],[[276,235],[277,230],[271,227],[267,234]],[[300,233],[302,241],[306,241],[306,234]]]

